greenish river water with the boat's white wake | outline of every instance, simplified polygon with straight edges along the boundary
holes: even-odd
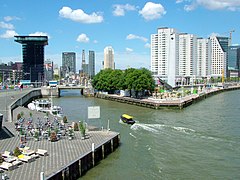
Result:
[[[54,103],[70,121],[120,132],[120,147],[83,179],[240,179],[240,91],[224,92],[183,110],[153,110],[63,92]],[[87,107],[101,118],[87,120]],[[134,125],[119,123],[121,114]]]

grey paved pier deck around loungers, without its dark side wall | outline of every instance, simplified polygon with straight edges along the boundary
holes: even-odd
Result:
[[[4,123],[11,132],[15,132],[12,123]],[[12,180],[32,180],[40,179],[40,173],[44,172],[46,177],[54,175],[68,167],[72,162],[81,159],[86,154],[91,153],[92,143],[95,148],[111,141],[119,133],[112,131],[89,131],[88,138],[81,140],[80,132],[75,132],[75,138],[69,140],[68,137],[62,138],[57,142],[50,142],[42,139],[34,141],[27,140],[26,146],[32,150],[45,149],[48,151],[48,156],[40,156],[35,161],[19,165],[18,168],[8,171],[7,175]],[[15,137],[1,140],[0,152],[13,151],[15,147],[20,145],[20,138],[15,134]]]

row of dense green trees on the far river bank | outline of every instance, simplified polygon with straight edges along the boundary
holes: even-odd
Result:
[[[92,86],[99,91],[105,91],[113,94],[116,90],[129,90],[138,97],[139,92],[148,90],[152,92],[155,88],[155,82],[152,74],[146,68],[126,70],[104,69],[96,74],[92,80]]]

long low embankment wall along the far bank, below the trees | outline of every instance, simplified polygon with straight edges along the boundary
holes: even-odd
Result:
[[[193,103],[206,99],[212,95],[222,93],[225,91],[232,91],[238,90],[240,86],[232,86],[228,88],[219,88],[219,89],[211,89],[205,92],[201,92],[199,94],[192,94],[189,96],[185,96],[182,98],[168,98],[168,99],[156,99],[156,98],[148,98],[148,99],[135,99],[130,97],[123,97],[119,95],[112,95],[112,94],[96,94],[95,97],[127,103],[152,109],[161,109],[161,108],[177,108],[183,109]]]

